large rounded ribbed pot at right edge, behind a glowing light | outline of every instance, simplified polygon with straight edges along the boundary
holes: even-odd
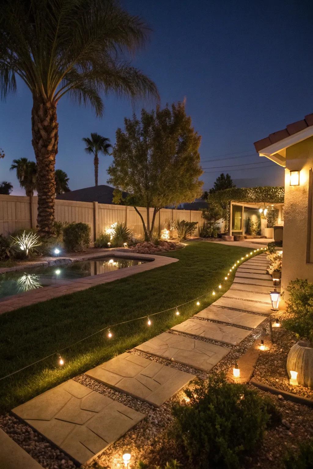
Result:
[[[290,348],[287,357],[287,372],[297,371],[298,383],[313,388],[313,346],[309,342],[299,341]]]

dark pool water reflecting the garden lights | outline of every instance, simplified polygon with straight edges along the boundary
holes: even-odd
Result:
[[[24,293],[50,285],[62,285],[69,281],[114,272],[133,265],[145,264],[146,260],[125,257],[97,257],[63,265],[36,267],[0,274],[0,300],[11,295]]]

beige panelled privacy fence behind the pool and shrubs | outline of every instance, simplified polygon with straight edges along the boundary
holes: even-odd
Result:
[[[38,197],[3,196],[0,195],[0,234],[8,236],[16,230],[36,228]],[[137,207],[146,221],[146,209]],[[150,209],[150,220],[153,209]],[[55,219],[62,222],[83,222],[91,227],[91,242],[103,232],[104,228],[115,221],[126,223],[134,233],[144,234],[142,222],[134,207],[98,202],[75,202],[71,200],[55,200]],[[203,224],[201,211],[161,209],[155,219],[155,230],[167,227],[169,219],[198,221],[195,235]]]

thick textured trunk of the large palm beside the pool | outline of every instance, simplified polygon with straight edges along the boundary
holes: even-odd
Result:
[[[58,123],[56,106],[41,97],[33,96],[31,111],[32,146],[37,162],[38,233],[53,235],[55,155],[58,152]]]

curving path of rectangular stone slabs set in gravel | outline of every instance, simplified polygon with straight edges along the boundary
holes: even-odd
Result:
[[[252,330],[271,313],[268,293],[273,283],[266,272],[267,265],[265,253],[239,265],[232,286],[213,305],[172,327],[173,333],[161,333],[136,347],[147,358],[125,352],[86,375],[159,407],[195,376],[154,362],[149,355],[209,372],[230,348],[204,339],[236,346],[251,333],[236,326]],[[72,379],[12,412],[79,464],[92,460],[145,417]],[[34,465],[27,464],[26,461],[23,467],[38,467],[36,461]]]

